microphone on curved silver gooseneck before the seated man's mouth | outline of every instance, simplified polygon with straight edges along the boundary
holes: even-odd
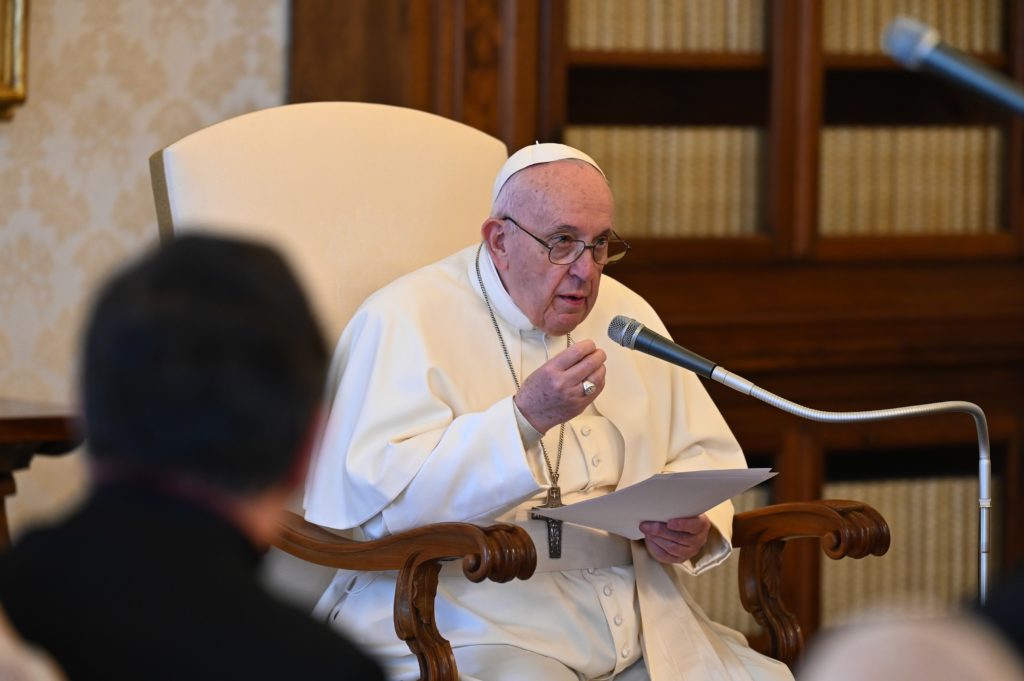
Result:
[[[969,414],[974,418],[978,433],[978,595],[984,603],[988,593],[988,546],[991,538],[989,512],[992,499],[989,493],[992,479],[992,459],[988,449],[988,421],[985,413],[974,402],[945,401],[930,405],[913,405],[895,409],[879,409],[866,412],[823,412],[790,401],[773,392],[758,387],[742,376],[727,371],[724,367],[706,359],[695,352],[677,345],[659,336],[631,317],[620,314],[608,325],[608,337],[632,350],[665,359],[694,374],[717,381],[737,392],[774,407],[794,416],[822,423],[867,423],[869,421],[892,421],[931,414]]]

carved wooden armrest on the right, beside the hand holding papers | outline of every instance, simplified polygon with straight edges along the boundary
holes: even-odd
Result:
[[[732,545],[739,553],[739,598],[769,636],[772,657],[793,665],[804,647],[796,616],[779,595],[782,549],[794,539],[817,538],[829,558],[881,556],[889,550],[889,525],[867,504],[814,501],[775,504],[736,514]]]

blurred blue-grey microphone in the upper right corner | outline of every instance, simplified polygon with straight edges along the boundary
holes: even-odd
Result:
[[[927,71],[1024,114],[1024,88],[972,56],[941,42],[930,26],[897,16],[882,34],[882,49],[911,71]]]

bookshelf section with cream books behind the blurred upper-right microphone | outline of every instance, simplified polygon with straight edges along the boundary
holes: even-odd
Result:
[[[1019,123],[971,93],[900,70],[881,54],[878,39],[870,40],[893,14],[910,14],[950,45],[1006,70],[1020,51],[1012,29],[1019,10],[1019,3],[1004,0],[822,4],[820,16],[812,17],[823,35],[819,177],[827,184],[827,155],[844,136],[859,167],[851,187],[837,193],[823,185],[818,193],[819,257],[1009,257],[1020,251],[1020,201],[1008,190],[1020,174],[1011,142]],[[836,199],[852,202],[860,224],[837,225],[826,217]]]

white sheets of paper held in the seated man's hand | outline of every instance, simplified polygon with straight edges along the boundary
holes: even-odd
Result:
[[[538,515],[642,539],[640,522],[700,515],[741,492],[776,475],[770,468],[735,468],[662,473],[642,482]]]

